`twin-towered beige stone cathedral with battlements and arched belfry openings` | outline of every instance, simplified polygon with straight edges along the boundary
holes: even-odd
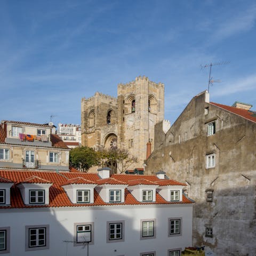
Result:
[[[118,84],[117,98],[96,92],[81,102],[82,145],[94,149],[128,149],[143,167],[147,143],[154,150],[154,126],[164,119],[164,84],[136,77]]]

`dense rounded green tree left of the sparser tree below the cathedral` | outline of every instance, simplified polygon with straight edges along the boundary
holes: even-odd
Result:
[[[69,163],[82,172],[87,172],[92,166],[98,165],[98,154],[89,147],[77,147],[70,150]]]

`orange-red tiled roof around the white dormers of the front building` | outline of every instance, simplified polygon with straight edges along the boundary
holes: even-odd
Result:
[[[31,176],[38,177],[38,179],[44,179],[53,183],[53,185],[49,188],[49,205],[25,205],[22,201],[22,197],[20,194],[20,190],[16,186],[17,183],[25,181]],[[8,179],[14,182],[14,185],[11,187],[11,205],[10,206],[0,206],[0,208],[35,208],[35,207],[67,207],[67,206],[92,206],[92,205],[109,205],[108,203],[103,202],[102,198],[99,196],[96,190],[94,190],[94,203],[93,204],[73,204],[68,198],[65,190],[61,187],[67,180],[75,179],[75,178],[83,178],[85,180],[90,180],[92,182],[98,183],[99,181],[106,181],[108,179],[99,180],[98,173],[74,173],[74,172],[43,172],[43,171],[6,171],[0,170],[0,177],[4,179]],[[156,176],[153,175],[127,175],[127,174],[113,174],[111,175],[111,179],[117,180],[121,184],[127,184],[129,180],[135,180],[138,178],[145,178],[147,180],[155,181],[159,180]],[[134,179],[135,178],[135,179]],[[123,182],[122,182],[123,181]],[[190,199],[183,195],[182,202],[167,202],[161,197],[158,193],[156,193],[156,202],[148,202],[147,204],[187,204],[193,203]],[[139,205],[145,204],[138,202],[132,194],[125,189],[125,203],[116,203],[116,204],[124,204],[124,205]],[[113,203],[111,204],[113,205]]]

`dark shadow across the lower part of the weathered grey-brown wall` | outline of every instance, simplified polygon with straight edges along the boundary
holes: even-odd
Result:
[[[206,202],[205,192],[205,201],[194,205],[193,244],[217,255],[255,256],[255,191],[255,185],[216,188],[212,202]]]

